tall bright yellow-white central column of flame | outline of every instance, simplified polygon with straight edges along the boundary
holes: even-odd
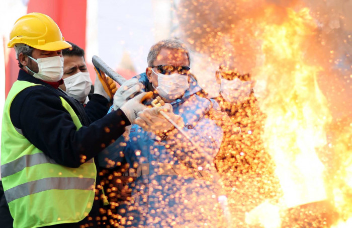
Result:
[[[254,73],[267,83],[260,102],[266,113],[266,147],[275,160],[276,174],[288,207],[326,199],[324,166],[316,151],[326,144],[331,121],[316,77],[322,67],[307,63],[305,43],[316,29],[309,10],[288,9],[286,21],[263,26],[263,65]]]

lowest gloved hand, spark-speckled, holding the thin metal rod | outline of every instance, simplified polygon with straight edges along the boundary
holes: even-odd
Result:
[[[162,138],[162,135],[166,133],[166,136],[170,138],[171,135],[177,133],[177,129],[163,117],[158,111],[162,110],[168,117],[171,118],[177,125],[184,127],[185,123],[181,116],[175,115],[172,112],[172,106],[170,104],[165,104],[164,106],[158,108],[145,109],[138,113],[138,118],[135,123],[143,128],[145,131],[151,131]],[[166,138],[166,137],[165,137]],[[162,139],[165,139],[162,138]]]

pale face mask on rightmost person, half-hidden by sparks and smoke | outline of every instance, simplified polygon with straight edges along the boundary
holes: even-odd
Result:
[[[221,79],[220,93],[223,98],[231,103],[241,103],[249,97],[251,92],[251,81],[241,81],[239,79]]]

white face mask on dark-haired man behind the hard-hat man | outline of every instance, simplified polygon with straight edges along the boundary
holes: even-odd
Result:
[[[78,72],[65,78],[66,94],[81,102],[86,99],[91,91],[92,81],[89,72]]]

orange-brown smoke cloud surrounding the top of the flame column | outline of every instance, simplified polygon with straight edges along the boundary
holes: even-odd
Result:
[[[177,14],[181,38],[202,56],[201,62],[214,67],[225,64],[245,73],[252,72],[263,58],[263,22],[267,26],[281,25],[288,18],[288,9],[297,12],[303,8],[309,9],[315,23],[311,37],[302,44],[304,57],[324,68],[318,83],[333,115],[350,115],[352,0],[181,0]],[[209,72],[200,74],[206,82],[214,77]]]

